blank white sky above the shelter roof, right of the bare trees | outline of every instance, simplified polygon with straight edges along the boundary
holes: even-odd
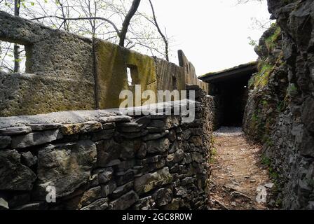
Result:
[[[252,18],[267,20],[266,2],[236,5],[235,0],[154,0],[158,22],[173,36],[175,53],[182,49],[198,76],[254,61],[247,37],[258,40],[263,29],[252,29]],[[142,4],[142,10],[146,10]],[[149,10],[149,8],[147,9]],[[172,57],[173,58],[173,57]],[[173,60],[173,59],[172,59]],[[176,64],[177,59],[174,61]]]

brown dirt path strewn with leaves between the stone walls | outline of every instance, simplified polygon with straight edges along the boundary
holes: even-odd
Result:
[[[257,202],[257,195],[266,190],[268,196],[260,198],[269,197],[273,186],[268,170],[261,165],[261,147],[250,144],[241,132],[218,135],[214,136],[211,161],[210,208],[268,209],[267,203]]]

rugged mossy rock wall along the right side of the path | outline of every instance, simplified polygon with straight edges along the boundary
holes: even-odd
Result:
[[[262,36],[244,129],[264,143],[282,209],[314,209],[313,1],[268,0],[277,25]]]

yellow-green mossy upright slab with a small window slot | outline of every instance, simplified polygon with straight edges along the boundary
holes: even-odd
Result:
[[[142,92],[157,92],[156,64],[152,57],[121,48],[106,41],[95,41],[97,98],[100,109],[118,108],[122,90],[135,95],[134,85],[141,85]],[[128,83],[127,68],[135,68],[132,84]]]

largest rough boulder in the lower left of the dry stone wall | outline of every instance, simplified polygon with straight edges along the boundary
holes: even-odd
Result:
[[[39,196],[46,195],[46,187],[50,185],[55,186],[57,197],[63,197],[88,183],[96,156],[92,141],[50,145],[39,150]]]

